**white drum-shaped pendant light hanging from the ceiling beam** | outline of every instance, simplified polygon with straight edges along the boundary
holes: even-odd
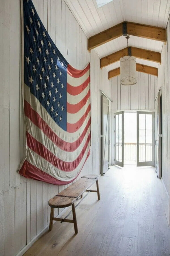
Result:
[[[129,36],[126,36],[127,45]],[[128,48],[128,55],[120,58],[120,83],[132,85],[137,82],[136,58],[131,56],[131,47]]]

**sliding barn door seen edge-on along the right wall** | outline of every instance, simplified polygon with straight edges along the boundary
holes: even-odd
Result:
[[[161,166],[162,166],[162,132],[161,132],[161,96],[158,92],[157,96],[157,163],[156,170],[158,177],[161,179]]]

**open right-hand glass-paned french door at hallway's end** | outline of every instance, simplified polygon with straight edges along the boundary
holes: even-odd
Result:
[[[154,166],[154,115],[137,111],[137,166]]]

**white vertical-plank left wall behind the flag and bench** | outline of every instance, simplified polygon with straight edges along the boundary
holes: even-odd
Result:
[[[63,0],[34,0],[52,40],[75,68],[91,62],[91,154],[81,175],[100,172],[100,92],[112,97],[106,69]],[[48,200],[64,186],[25,179],[17,173],[24,154],[20,85],[20,0],[0,2],[0,255],[16,255],[49,223]],[[20,124],[20,125],[19,125]],[[56,209],[55,215],[58,214]]]

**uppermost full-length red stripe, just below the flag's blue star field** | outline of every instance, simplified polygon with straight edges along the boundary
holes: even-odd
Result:
[[[88,123],[86,127],[84,128],[84,131],[80,135],[80,137],[75,142],[66,142],[60,139],[54,131],[47,125],[47,123],[40,117],[40,115],[31,108],[31,105],[24,100],[24,111],[25,115],[39,128],[43,131],[43,133],[59,148],[62,150],[66,150],[68,152],[75,151],[80,144],[82,143],[82,140],[84,136],[87,133],[87,130],[90,126],[91,120],[88,120]]]

